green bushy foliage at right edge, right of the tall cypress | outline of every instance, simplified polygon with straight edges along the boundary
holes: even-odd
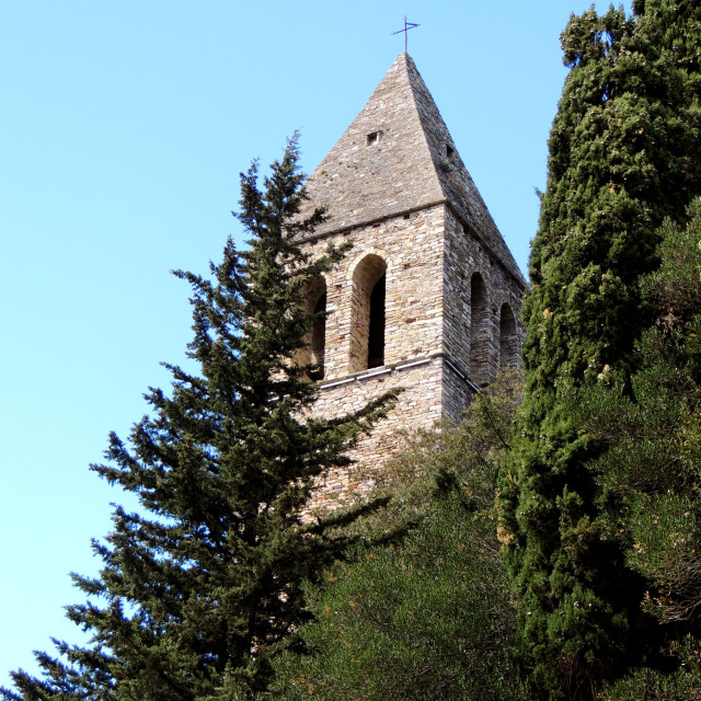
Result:
[[[678,667],[643,669],[617,683],[613,699],[701,693],[701,199],[688,226],[665,221],[660,233],[663,264],[642,285],[656,323],[636,344],[631,391],[599,384],[570,405],[601,446],[589,466],[601,530],[644,577],[639,604],[658,621],[667,667]]]

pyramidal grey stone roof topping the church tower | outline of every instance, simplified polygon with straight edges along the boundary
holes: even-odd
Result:
[[[317,233],[448,203],[473,234],[525,284],[458,154],[414,61],[401,54],[372,96],[307,181],[329,207]]]

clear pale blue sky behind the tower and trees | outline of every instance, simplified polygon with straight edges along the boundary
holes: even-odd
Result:
[[[308,172],[409,53],[526,269],[565,69],[589,0],[0,2],[0,685],[49,635],[77,641],[67,573],[120,495],[88,464],[126,437],[250,160],[302,131]],[[598,3],[604,10],[607,4]]]

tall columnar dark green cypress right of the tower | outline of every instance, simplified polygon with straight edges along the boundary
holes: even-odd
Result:
[[[596,446],[566,392],[629,391],[633,344],[652,322],[639,280],[658,264],[656,229],[701,192],[697,4],[648,0],[632,18],[591,9],[561,37],[571,71],[530,257],[525,400],[498,495],[522,644],[552,698],[596,698],[602,679],[656,646],[639,606],[644,577],[598,521]],[[683,60],[675,36],[686,37]]]

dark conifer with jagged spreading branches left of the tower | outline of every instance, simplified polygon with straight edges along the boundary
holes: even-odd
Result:
[[[38,653],[43,676],[14,673],[7,700],[264,698],[272,659],[300,648],[296,631],[310,616],[302,582],[318,581],[353,540],[332,531],[360,507],[308,521],[300,513],[314,479],[347,463],[388,398],[313,418],[313,368],[294,361],[315,318],[304,295],[343,252],[311,261],[295,244],[324,217],[300,215],[296,138],[263,189],[253,163],[241,193],[235,216],[250,248],[229,240],[214,280],[175,273],[194,292],[187,355],[200,374],[168,365],[171,395],[151,388],[151,415],[127,443],[111,435],[108,461],[92,467],[141,509],[115,508],[106,542],[93,542],[96,578],[72,575],[88,600],[67,614],[91,642]]]

